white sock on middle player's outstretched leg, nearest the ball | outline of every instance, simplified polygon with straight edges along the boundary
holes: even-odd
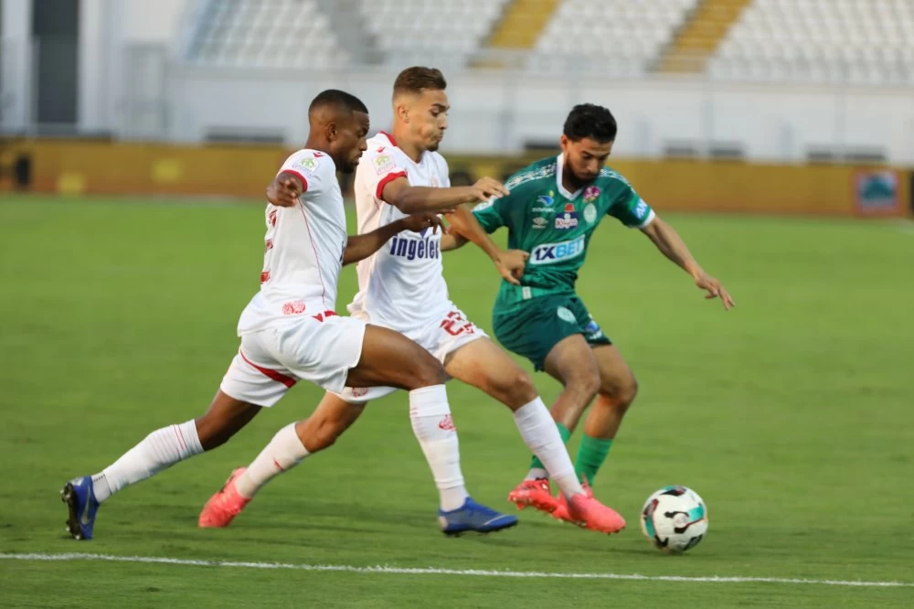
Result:
[[[568,449],[562,442],[562,436],[558,433],[556,422],[552,420],[546,404],[537,397],[518,408],[514,416],[527,448],[546,465],[548,474],[556,481],[562,494],[571,497],[583,493],[584,489],[574,473]]]

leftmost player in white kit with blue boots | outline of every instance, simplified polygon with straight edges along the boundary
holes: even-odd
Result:
[[[300,379],[330,391],[342,391],[347,384],[391,385],[409,390],[415,408],[448,408],[446,375],[427,350],[397,332],[335,313],[343,265],[366,258],[402,230],[437,230],[441,220],[417,214],[399,219],[396,226],[347,238],[336,171],[351,173],[366,150],[367,109],[349,93],[331,90],[314,99],[308,116],[308,141],[279,174],[298,196],[285,207],[266,208],[260,291],[240,315],[239,353],[216,397],[203,416],[150,433],[100,473],[64,486],[67,526],[75,539],[92,538],[98,508],[112,494],[225,443]],[[308,454],[294,432],[280,439],[291,445],[287,458]],[[512,521],[516,519],[502,516],[495,524],[510,526]]]

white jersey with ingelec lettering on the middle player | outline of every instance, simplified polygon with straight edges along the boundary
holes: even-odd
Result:
[[[392,136],[383,132],[375,135],[368,140],[368,149],[356,168],[359,234],[405,218],[398,208],[381,199],[384,187],[398,177],[406,177],[414,187],[451,186],[443,156],[425,152],[415,163]],[[451,310],[441,266],[441,230],[404,230],[359,262],[357,271],[358,294],[348,307],[349,313],[372,324],[407,332],[438,324]]]

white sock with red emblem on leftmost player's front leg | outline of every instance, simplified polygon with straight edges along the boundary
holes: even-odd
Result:
[[[409,391],[409,420],[435,478],[441,509],[461,508],[469,497],[460,469],[460,443],[444,385]]]

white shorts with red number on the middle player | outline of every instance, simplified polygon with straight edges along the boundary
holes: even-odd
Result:
[[[368,323],[370,324],[371,322],[368,321]],[[403,334],[419,343],[420,347],[438,359],[441,364],[444,364],[444,360],[448,355],[460,347],[479,338],[487,338],[489,336],[473,324],[472,321],[468,320],[466,315],[463,315],[463,312],[456,306],[453,307],[450,313],[444,315],[440,322],[423,326],[410,332],[404,332]],[[331,391],[331,393],[349,403],[363,404],[367,401],[383,398],[396,390],[393,387],[346,387],[342,391]]]

